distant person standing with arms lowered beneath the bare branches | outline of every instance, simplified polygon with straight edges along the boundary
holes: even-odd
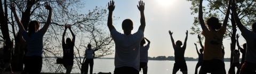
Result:
[[[87,45],[88,49],[85,50],[85,62],[84,62],[84,67],[85,70],[84,72],[87,74],[88,73],[88,67],[90,65],[90,74],[92,74],[93,71],[93,58],[95,57],[94,50],[92,49],[92,45],[88,44]],[[83,72],[82,72],[83,73]]]

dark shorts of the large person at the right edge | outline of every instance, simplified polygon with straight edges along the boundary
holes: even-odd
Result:
[[[255,73],[255,71],[256,71],[256,63],[245,61],[243,66],[241,67],[240,74]]]

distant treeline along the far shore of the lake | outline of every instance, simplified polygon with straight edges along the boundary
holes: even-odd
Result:
[[[175,61],[175,58],[173,56],[165,57],[165,56],[158,56],[158,57],[148,57],[148,60],[170,60]],[[192,58],[192,57],[185,57],[186,61],[198,61],[198,58]],[[241,61],[241,58],[239,59]],[[225,62],[229,62],[230,58],[224,58]]]

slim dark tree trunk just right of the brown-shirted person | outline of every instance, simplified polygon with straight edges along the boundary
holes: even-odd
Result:
[[[232,24],[232,33],[231,33],[231,46],[230,46],[231,47],[230,48],[230,50],[231,50],[230,66],[233,63],[233,54],[232,54],[232,52],[236,48],[236,22],[234,20],[234,16],[233,15],[231,15],[231,24]],[[231,73],[230,74],[235,74],[235,72],[236,72],[235,68],[231,68]]]

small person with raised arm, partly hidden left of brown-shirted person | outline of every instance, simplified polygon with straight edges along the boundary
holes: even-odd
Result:
[[[198,35],[199,36],[199,35]],[[199,39],[199,42],[201,42],[201,40]],[[195,43],[195,45],[196,45],[196,43]],[[203,59],[203,51],[204,51],[204,49],[200,49],[199,50],[200,51],[200,53],[198,52],[198,50],[197,50],[197,46],[196,46],[196,52],[197,52],[197,54],[198,54],[198,62],[197,62],[197,64],[196,64],[196,70],[195,70],[195,74],[197,74],[197,69],[202,65],[202,63],[203,63],[203,61],[204,61],[204,59]]]

